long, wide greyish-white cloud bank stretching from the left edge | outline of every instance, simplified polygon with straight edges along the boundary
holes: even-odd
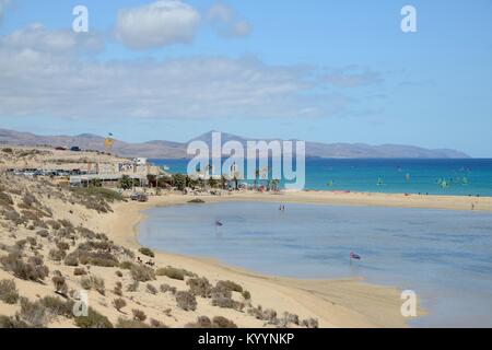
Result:
[[[42,25],[0,37],[0,118],[303,118],[351,107],[330,88],[355,84],[343,78],[347,69],[268,66],[250,57],[103,61],[75,55],[93,40]]]

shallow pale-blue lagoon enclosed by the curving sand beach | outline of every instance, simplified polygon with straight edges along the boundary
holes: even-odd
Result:
[[[154,208],[139,242],[297,278],[363,277],[415,291],[417,327],[492,326],[492,214],[227,202]],[[215,228],[215,220],[224,225]],[[362,256],[349,262],[349,253]]]

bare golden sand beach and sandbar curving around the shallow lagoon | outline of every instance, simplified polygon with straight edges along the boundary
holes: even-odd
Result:
[[[155,207],[186,205],[194,198],[206,203],[227,201],[267,201],[282,203],[316,203],[330,206],[378,206],[426,208],[441,210],[492,211],[491,197],[408,196],[395,194],[302,191],[260,194],[233,192],[225,196],[184,196],[167,194],[150,197],[149,202],[115,205],[115,213],[103,229],[116,243],[140,248],[138,224],[145,219],[144,211]],[[197,271],[200,275],[231,279],[261,295],[268,305],[279,311],[297,310],[300,314],[319,319],[320,327],[407,327],[400,315],[400,291],[397,287],[370,284],[362,279],[303,280],[263,276],[241,267],[233,267],[209,257],[185,256],[157,252],[155,261]],[[419,310],[419,315],[425,313]]]

